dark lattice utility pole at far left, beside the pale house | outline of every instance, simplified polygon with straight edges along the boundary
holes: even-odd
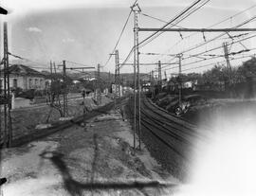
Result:
[[[12,124],[10,116],[10,89],[9,89],[9,47],[8,24],[4,23],[4,146],[11,147]]]

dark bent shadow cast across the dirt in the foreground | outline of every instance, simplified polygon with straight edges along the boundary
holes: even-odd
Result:
[[[66,165],[64,164],[64,154],[59,152],[52,152],[52,151],[45,151],[40,154],[43,158],[49,159],[57,169],[61,172],[64,180],[64,187],[70,193],[70,195],[81,196],[83,190],[108,190],[108,189],[142,189],[145,187],[176,187],[174,184],[161,184],[157,181],[150,181],[150,182],[90,182],[90,183],[80,183],[72,178],[67,169]],[[89,179],[89,176],[88,176]]]

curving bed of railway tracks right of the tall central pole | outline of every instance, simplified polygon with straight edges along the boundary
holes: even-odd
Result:
[[[133,109],[134,101],[130,99],[127,107],[129,116],[133,116]],[[204,138],[197,131],[197,126],[160,109],[145,96],[141,97],[140,114],[141,138],[151,148],[150,151],[161,159],[160,162],[165,162],[167,167],[174,165],[170,167],[172,170],[186,170],[185,165],[191,164],[190,155],[196,148],[196,140]]]

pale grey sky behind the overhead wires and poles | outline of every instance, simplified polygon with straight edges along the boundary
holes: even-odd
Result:
[[[181,10],[189,7],[193,0],[138,0],[141,12],[170,21]],[[160,3],[159,3],[160,2]],[[109,54],[113,51],[114,45],[119,38],[119,33],[130,12],[130,7],[134,0],[4,0],[0,5],[9,9],[8,16],[1,16],[1,21],[8,21],[9,25],[9,51],[12,54],[24,57],[32,66],[48,67],[50,61],[57,64],[62,61],[70,61],[67,66],[78,66],[71,62],[81,62],[82,64],[96,66],[101,63],[103,66]],[[210,27],[211,25],[229,18],[241,10],[256,5],[254,0],[210,0],[201,9],[192,13],[187,19],[178,24],[181,27]],[[229,18],[225,23],[215,27],[234,27],[254,16],[256,8],[249,9],[243,14]],[[130,49],[134,45],[133,37],[133,14],[131,15],[127,27],[118,45],[119,59],[122,62]],[[2,23],[1,23],[2,24]],[[138,16],[139,27],[162,27],[163,22]],[[255,27],[255,21],[243,27]],[[1,32],[2,32],[1,26]],[[149,36],[151,32],[139,32],[139,41]],[[197,33],[189,38],[188,35],[194,33],[165,32],[157,37],[149,45],[139,49],[140,62],[177,62],[174,57],[160,55],[149,56],[143,53],[178,54],[194,45],[204,43],[204,36],[207,41],[221,33]],[[230,32],[231,36],[241,35],[242,32]],[[254,35],[250,33],[249,35]],[[241,35],[240,39],[247,35]],[[185,38],[185,39],[184,39]],[[2,35],[1,35],[2,39]],[[229,35],[224,35],[220,39],[210,44],[200,46],[184,54],[184,58],[194,55],[210,48],[221,46],[223,42],[231,43]],[[249,39],[242,44],[237,43],[229,48],[230,52],[256,47],[255,39]],[[247,54],[254,54],[256,50],[251,50]],[[223,48],[209,52],[208,54],[223,54]],[[241,55],[239,56],[241,57]],[[209,58],[209,57],[208,57]],[[223,62],[224,58],[210,61],[198,62],[199,58],[182,60],[182,70],[186,73],[202,72],[210,66],[208,63]],[[246,61],[247,58],[232,61],[231,65],[236,66]],[[10,61],[17,61],[10,58]],[[133,56],[129,59],[133,62]],[[189,64],[191,62],[195,62]],[[79,65],[81,66],[81,65]],[[203,66],[201,68],[195,68]],[[163,71],[168,75],[177,72],[176,65],[163,65]],[[101,68],[103,71],[114,72],[114,56]],[[154,70],[155,66],[141,66],[141,72],[148,73]],[[186,69],[189,69],[186,71]],[[132,72],[132,66],[123,66],[121,72]]]

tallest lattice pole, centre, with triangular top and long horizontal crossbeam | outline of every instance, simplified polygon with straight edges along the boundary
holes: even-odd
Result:
[[[138,113],[138,148],[141,149],[141,129],[140,129],[140,80],[139,80],[139,52],[138,52],[138,25],[137,15],[141,11],[138,4],[135,4],[132,8],[134,11],[134,149],[136,150],[136,121]],[[137,66],[137,82],[136,82],[136,66]],[[137,84],[137,85],[136,85]],[[136,87],[137,87],[137,98],[136,98]],[[137,99],[137,104],[136,104]],[[137,107],[136,107],[137,105]],[[138,111],[137,111],[138,110]]]

